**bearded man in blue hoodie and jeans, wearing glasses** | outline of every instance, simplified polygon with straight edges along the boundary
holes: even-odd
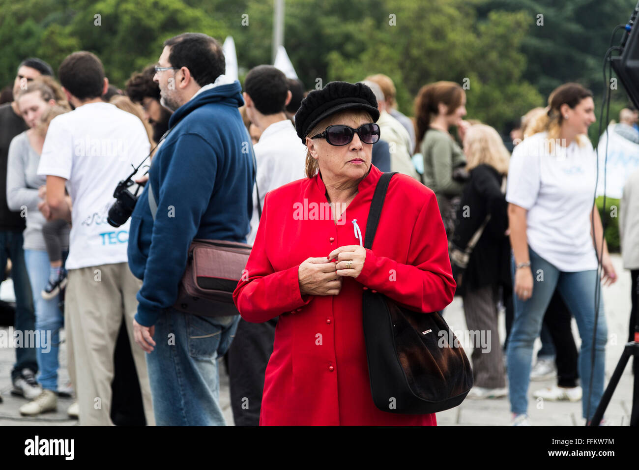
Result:
[[[240,317],[200,317],[172,306],[192,239],[246,242],[254,168],[238,111],[242,88],[224,75],[220,44],[199,33],[167,40],[155,70],[160,102],[174,113],[131,217],[128,262],[143,281],[134,336],[149,353],[157,425],[224,425],[217,358]]]

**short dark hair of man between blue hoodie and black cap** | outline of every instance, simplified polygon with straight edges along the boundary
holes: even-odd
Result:
[[[262,114],[284,111],[288,82],[286,75],[272,65],[258,65],[250,69],[244,79],[244,91]]]

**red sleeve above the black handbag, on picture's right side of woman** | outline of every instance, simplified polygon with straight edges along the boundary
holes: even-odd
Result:
[[[366,249],[364,267],[356,280],[417,311],[438,311],[452,302],[457,286],[450,270],[446,231],[433,192],[427,196],[415,221],[406,261],[406,264],[398,263]]]

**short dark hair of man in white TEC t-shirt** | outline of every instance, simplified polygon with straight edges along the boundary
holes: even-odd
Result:
[[[69,54],[58,68],[62,86],[79,100],[102,97],[104,67],[98,56],[87,51]]]

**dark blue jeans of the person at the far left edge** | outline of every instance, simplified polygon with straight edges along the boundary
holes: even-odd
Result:
[[[12,263],[11,278],[13,292],[15,292],[15,331],[34,331],[35,315],[33,313],[33,297],[31,284],[27,276],[22,250],[22,230],[0,230],[0,269],[4,270],[6,259]],[[24,333],[23,333],[24,334]],[[15,364],[11,371],[11,379],[16,379],[27,368],[38,372],[38,360],[34,347],[20,347],[15,349]]]

